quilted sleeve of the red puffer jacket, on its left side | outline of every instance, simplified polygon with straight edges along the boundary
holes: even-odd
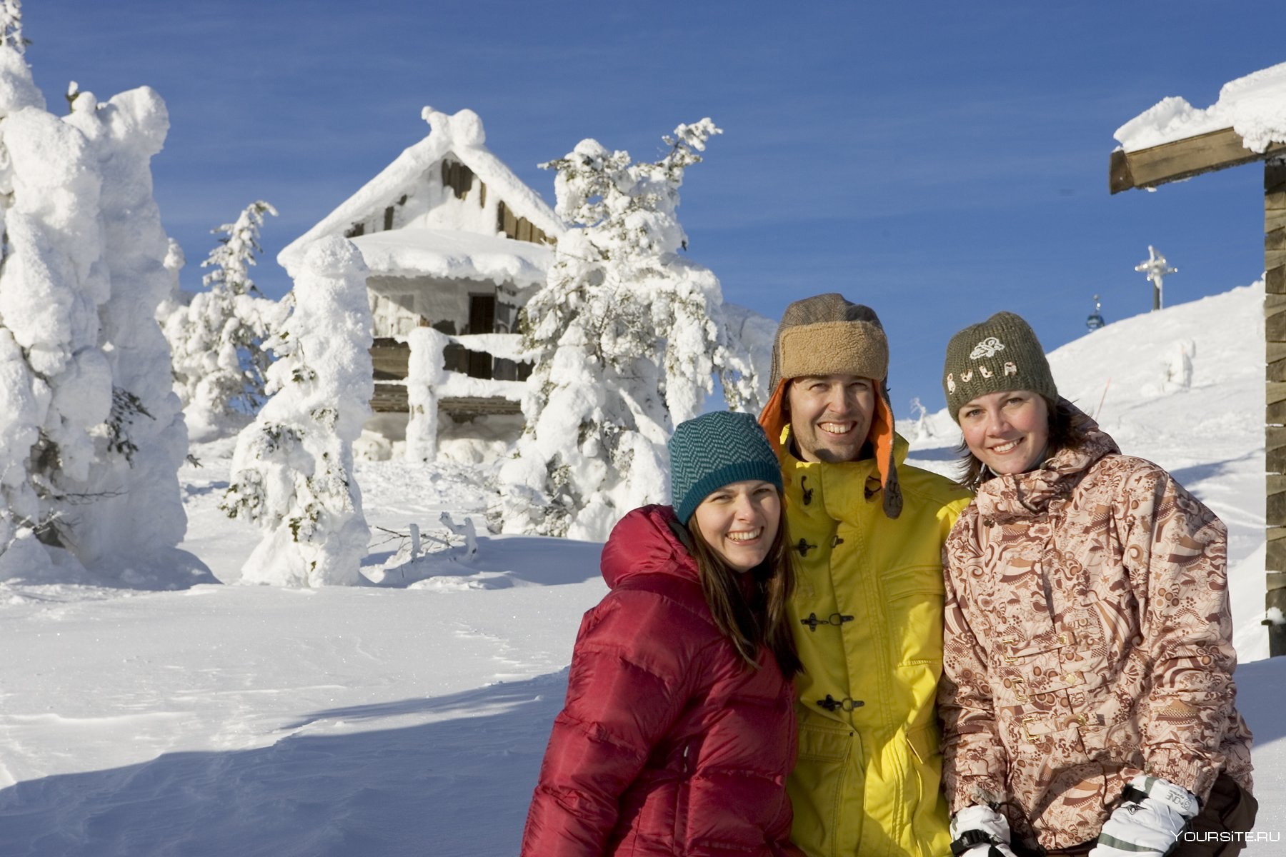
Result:
[[[586,614],[527,812],[523,857],[604,852],[620,797],[694,690],[710,635],[652,592],[613,591]]]

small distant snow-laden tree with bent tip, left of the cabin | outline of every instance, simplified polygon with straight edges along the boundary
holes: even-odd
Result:
[[[190,296],[165,319],[174,352],[174,382],[192,436],[217,437],[244,425],[264,403],[264,378],[271,362],[262,343],[279,305],[262,297],[249,278],[261,253],[258,230],[276,209],[264,200],[246,207],[234,224],[212,230],[219,247],[202,267],[208,292]]]

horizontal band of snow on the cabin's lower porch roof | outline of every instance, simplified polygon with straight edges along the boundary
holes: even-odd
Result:
[[[350,240],[370,272],[385,276],[509,280],[527,287],[545,281],[553,260],[543,244],[448,229],[397,229]]]

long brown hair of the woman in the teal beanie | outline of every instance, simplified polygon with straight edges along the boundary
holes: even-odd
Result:
[[[781,497],[781,491],[778,491]],[[715,624],[751,667],[759,668],[759,648],[768,646],[782,675],[791,678],[804,672],[795,651],[786,604],[795,590],[795,568],[791,564],[790,537],[786,533],[786,501],[777,537],[764,561],[748,572],[738,572],[719,555],[697,527],[697,517],[688,519],[692,556],[697,560],[697,577],[706,595]],[[742,588],[742,576],[754,583],[750,596]]]

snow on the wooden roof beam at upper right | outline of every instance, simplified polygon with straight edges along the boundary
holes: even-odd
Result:
[[[1229,81],[1219,100],[1204,110],[1170,96],[1116,128],[1112,136],[1127,152],[1231,127],[1251,152],[1286,143],[1286,63]]]

